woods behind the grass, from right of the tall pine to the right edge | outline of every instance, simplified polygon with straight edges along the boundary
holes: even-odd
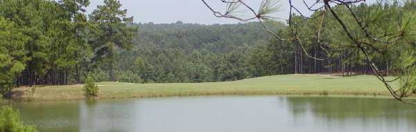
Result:
[[[343,6],[334,7],[348,30],[361,27]],[[372,35],[381,37],[400,32],[406,12],[415,11],[415,1],[361,4],[351,9],[379,26],[370,27]],[[374,16],[371,16],[372,14]],[[321,19],[322,16],[324,19]],[[259,23],[204,26],[178,21],[171,24],[138,24],[137,44],[133,50],[122,51],[118,64],[122,82],[217,82],[290,73],[336,73],[343,76],[372,74],[365,56],[345,35],[342,26],[324,10],[306,19],[293,17],[291,27],[284,23],[269,23],[271,30],[288,38],[277,41],[263,30]],[[370,22],[369,22],[370,23]],[[387,38],[386,38],[387,39]],[[408,37],[415,44],[414,37]],[[369,41],[365,48],[375,52],[370,57],[384,75],[394,73],[390,68],[399,64],[397,59],[404,49],[414,45],[395,45]],[[370,44],[371,43],[371,44]],[[303,48],[302,48],[303,47]],[[316,59],[314,59],[316,58]],[[101,80],[107,80],[101,70]]]

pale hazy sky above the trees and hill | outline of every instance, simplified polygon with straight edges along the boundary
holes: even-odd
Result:
[[[90,0],[87,8],[88,13],[92,12],[103,0]],[[128,10],[128,16],[134,17],[135,23],[239,23],[241,21],[226,18],[214,17],[212,12],[202,3],[201,0],[120,0],[122,8]],[[214,9],[223,11],[225,5],[220,0],[206,0]],[[261,0],[245,0],[248,5],[258,10]],[[371,1],[371,0],[370,0]],[[302,0],[293,0],[293,3],[304,15],[311,15]],[[273,14],[278,21],[288,19],[288,0],[279,1],[279,12]],[[244,15],[244,14],[243,14]]]

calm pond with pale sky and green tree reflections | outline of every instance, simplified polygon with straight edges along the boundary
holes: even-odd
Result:
[[[209,96],[26,102],[40,131],[416,131],[416,106],[352,97]]]

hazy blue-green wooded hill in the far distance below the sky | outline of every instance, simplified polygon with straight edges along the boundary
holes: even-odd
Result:
[[[227,53],[241,47],[252,47],[269,39],[260,23],[201,25],[182,23],[144,23],[139,26],[136,48],[175,48],[191,53],[192,50],[209,50]],[[281,27],[284,24],[281,23]]]

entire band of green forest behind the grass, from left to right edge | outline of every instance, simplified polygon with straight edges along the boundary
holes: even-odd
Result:
[[[259,22],[201,25],[177,21],[169,24],[132,23],[117,0],[87,15],[88,0],[2,0],[0,1],[0,86],[83,83],[87,76],[96,81],[135,83],[218,82],[292,73],[370,73],[363,55],[347,39],[336,19],[306,19],[294,15],[288,23],[267,23],[273,32],[294,38],[273,39]],[[406,12],[414,12],[414,1],[352,6],[357,15],[379,26],[401,28]],[[335,6],[336,12],[348,10]],[[317,10],[311,17],[322,15]],[[325,17],[333,17],[324,13]],[[340,13],[340,18],[351,20]],[[381,15],[381,14],[380,14]],[[348,21],[347,21],[348,22]],[[319,24],[321,23],[321,24]],[[393,24],[392,24],[393,23]],[[327,28],[321,28],[319,26]],[[378,27],[377,35],[391,33]],[[316,32],[316,30],[320,32]],[[400,32],[399,32],[400,33]],[[388,38],[385,38],[388,40]],[[410,44],[374,44],[376,65],[388,75],[403,49]],[[325,58],[325,59],[313,59]]]

